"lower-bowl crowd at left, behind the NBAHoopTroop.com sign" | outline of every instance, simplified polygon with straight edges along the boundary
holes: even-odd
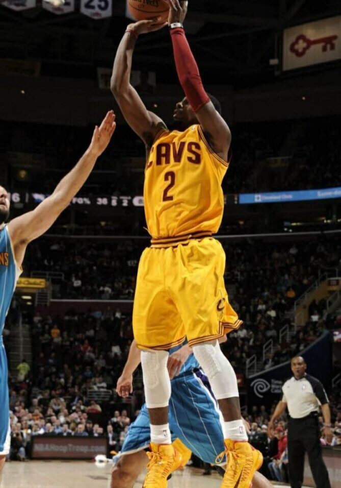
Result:
[[[119,451],[130,419],[115,385],[131,340],[130,317],[128,323],[119,309],[70,312],[53,321],[36,313],[32,368],[22,360],[10,376],[10,457],[30,457],[35,435],[104,435],[108,455]],[[134,399],[142,403],[139,381]]]

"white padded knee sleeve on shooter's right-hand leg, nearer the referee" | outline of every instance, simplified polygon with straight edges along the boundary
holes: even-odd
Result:
[[[193,346],[193,353],[207,375],[217,400],[239,397],[237,377],[222,353],[218,340]]]

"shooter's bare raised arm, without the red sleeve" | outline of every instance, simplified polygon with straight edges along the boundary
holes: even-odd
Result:
[[[116,53],[113,74],[111,77],[111,91],[129,126],[146,144],[151,146],[155,136],[166,125],[160,117],[149,112],[142,102],[138,92],[130,85],[133,52],[140,34],[157,31],[165,27],[166,23],[156,25],[159,17],[152,20],[140,20],[129,24]]]

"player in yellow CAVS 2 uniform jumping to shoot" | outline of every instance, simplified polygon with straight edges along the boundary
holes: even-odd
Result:
[[[222,487],[249,488],[263,457],[247,442],[235,373],[218,339],[241,325],[224,285],[225,254],[212,235],[221,224],[221,188],[229,165],[231,134],[220,105],[202,85],[182,22],[187,2],[169,0],[168,23],[175,66],[185,98],[169,131],[149,112],[130,85],[134,47],[140,34],[156,31],[160,19],[130,24],[116,54],[111,88],[132,129],[147,148],[144,206],[151,247],[140,260],[133,329],[142,350],[146,405],[150,417],[151,460],[144,488],[165,488],[181,464],[171,445],[168,351],[185,337],[207,375],[224,417],[228,467]]]

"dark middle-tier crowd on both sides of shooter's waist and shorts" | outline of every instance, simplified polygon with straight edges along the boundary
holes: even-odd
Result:
[[[320,272],[340,265],[337,237],[276,243],[222,240],[222,245],[229,292],[235,297],[235,310],[243,312],[247,325],[257,322],[265,312],[272,318],[283,315]],[[60,273],[60,281],[54,282],[53,298],[132,299],[139,258],[146,246],[148,240],[41,238],[29,248],[24,272]]]

